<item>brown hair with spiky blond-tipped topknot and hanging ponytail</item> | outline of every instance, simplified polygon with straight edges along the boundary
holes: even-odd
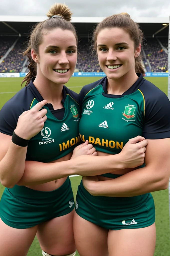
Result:
[[[57,15],[58,17],[51,18],[53,15]],[[37,74],[37,63],[31,57],[31,49],[34,49],[35,52],[39,54],[39,45],[42,43],[42,35],[45,35],[46,32],[52,31],[56,28],[61,28],[62,30],[70,30],[75,35],[78,45],[78,37],[75,27],[70,23],[71,15],[72,13],[66,4],[55,3],[51,6],[47,13],[47,17],[49,17],[49,19],[46,19],[35,25],[32,32],[30,33],[27,48],[23,52],[23,55],[28,57],[28,69],[30,71],[22,81],[22,84],[27,81],[25,85],[27,86],[30,83],[31,78],[35,77]]]

